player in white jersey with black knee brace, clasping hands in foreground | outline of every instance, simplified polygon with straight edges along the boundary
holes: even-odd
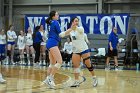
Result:
[[[84,64],[90,71],[92,78],[93,78],[93,86],[97,86],[97,79],[94,74],[94,68],[90,61],[90,50],[88,48],[87,43],[85,42],[85,35],[84,35],[84,28],[78,27],[79,25],[79,19],[77,17],[73,18],[71,20],[72,26],[76,26],[74,30],[71,32],[62,32],[60,34],[61,37],[64,37],[66,35],[70,35],[72,39],[72,45],[73,45],[73,55],[72,55],[72,62],[74,66],[74,76],[75,76],[75,82],[71,87],[77,87],[80,85],[79,82],[79,73],[80,73],[80,61],[81,57],[83,59]]]

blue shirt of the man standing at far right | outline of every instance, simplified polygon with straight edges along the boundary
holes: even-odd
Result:
[[[113,49],[117,49],[118,35],[115,34],[113,31],[109,35],[109,42],[111,42]],[[109,44],[108,44],[108,48],[110,48]]]

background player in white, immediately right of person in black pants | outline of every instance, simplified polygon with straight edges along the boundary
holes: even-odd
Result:
[[[47,40],[47,33],[46,31],[44,31],[43,29],[43,25],[40,26],[40,29],[39,29],[41,35],[42,35],[42,38],[43,38],[43,41],[41,42],[41,56],[40,56],[40,65],[42,65],[42,60],[43,60],[43,65],[46,65],[46,40]]]

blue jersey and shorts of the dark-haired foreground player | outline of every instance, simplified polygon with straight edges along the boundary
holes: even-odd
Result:
[[[52,20],[51,24],[48,24],[48,40],[46,45],[48,49],[54,46],[58,46],[60,42],[60,37],[59,37],[60,33],[61,30],[58,21]]]

